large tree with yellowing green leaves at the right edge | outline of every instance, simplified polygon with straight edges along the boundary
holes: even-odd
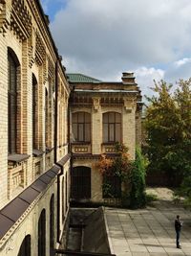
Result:
[[[172,185],[176,177],[191,175],[191,79],[180,80],[176,89],[155,82],[158,96],[147,98],[144,126],[150,172],[164,172]]]

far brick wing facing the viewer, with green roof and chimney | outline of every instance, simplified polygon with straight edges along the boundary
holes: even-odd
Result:
[[[71,85],[72,199],[107,201],[96,162],[104,153],[115,156],[117,142],[128,147],[135,159],[136,145],[141,145],[140,90],[133,73],[123,73],[119,82],[67,75]],[[120,195],[120,181],[111,182]]]

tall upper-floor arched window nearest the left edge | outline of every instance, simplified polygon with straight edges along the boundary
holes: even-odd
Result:
[[[8,145],[9,153],[16,152],[17,139],[17,72],[18,61],[14,53],[8,52]]]

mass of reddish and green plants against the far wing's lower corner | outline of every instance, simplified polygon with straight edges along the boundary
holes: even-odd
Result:
[[[121,194],[121,203],[123,206],[139,208],[145,205],[145,164],[140,150],[136,151],[136,160],[131,161],[128,149],[117,143],[117,156],[114,158],[101,155],[96,164],[103,179],[103,194],[109,198],[116,198],[117,191],[110,183],[111,177],[119,178],[124,188]],[[120,185],[121,187],[121,185]]]

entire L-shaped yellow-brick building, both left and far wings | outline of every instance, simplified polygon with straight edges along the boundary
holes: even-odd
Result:
[[[100,154],[120,141],[135,158],[140,91],[132,73],[66,75],[39,0],[0,0],[0,59],[0,256],[54,255],[71,182],[72,198],[103,201]]]

